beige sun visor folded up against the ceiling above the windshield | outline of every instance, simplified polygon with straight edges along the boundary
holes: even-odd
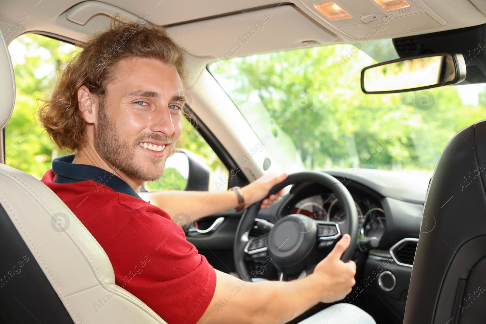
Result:
[[[167,31],[192,55],[215,58],[329,44],[336,39],[293,5],[176,25]]]

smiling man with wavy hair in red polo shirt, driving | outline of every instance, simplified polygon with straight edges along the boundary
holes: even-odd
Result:
[[[75,155],[55,159],[42,181],[104,248],[118,285],[170,324],[285,323],[351,291],[356,266],[339,259],[348,235],[300,280],[246,283],[214,270],[171,216],[183,211],[195,220],[235,208],[238,192],[209,198],[208,192],[159,193],[154,203],[165,211],[138,195],[145,181],[162,176],[181,134],[184,50],[162,28],[115,19],[82,48],[39,110],[52,140]],[[266,197],[285,178],[259,179],[242,188],[245,205]],[[282,193],[271,195],[262,207]],[[228,299],[230,292],[234,297]],[[344,304],[306,323],[325,323],[329,317],[328,323],[374,323],[359,308]]]

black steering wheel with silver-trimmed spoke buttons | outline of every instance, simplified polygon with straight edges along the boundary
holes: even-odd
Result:
[[[347,262],[351,259],[358,239],[358,212],[353,197],[339,180],[325,172],[296,172],[289,174],[287,179],[271,188],[266,198],[282,188],[301,182],[317,183],[329,188],[344,209],[344,221],[315,221],[305,215],[291,214],[279,219],[268,234],[248,240],[245,233],[253,225],[261,201],[249,206],[243,212],[234,241],[236,271],[243,280],[249,278],[251,281],[251,277],[254,277],[248,273],[245,255],[272,262],[280,272],[281,280],[283,274],[298,274],[316,259],[322,259],[322,250],[329,254],[332,245],[346,233],[350,235],[351,241],[341,260]]]

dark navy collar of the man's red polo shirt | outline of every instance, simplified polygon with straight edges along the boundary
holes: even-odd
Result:
[[[116,192],[141,199],[132,187],[115,174],[92,165],[73,164],[72,161],[75,156],[76,154],[64,155],[52,161],[52,172],[56,174],[55,183],[75,183],[93,180]]]

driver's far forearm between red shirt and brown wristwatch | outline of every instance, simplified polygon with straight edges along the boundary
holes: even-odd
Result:
[[[160,191],[154,192],[150,200],[153,205],[165,210],[172,218],[178,213],[186,213],[192,221],[238,205],[236,193],[233,191]]]

